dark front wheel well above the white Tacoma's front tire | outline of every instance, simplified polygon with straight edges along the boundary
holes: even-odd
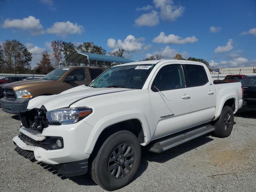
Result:
[[[138,119],[130,119],[106,127],[100,134],[93,153],[97,153],[104,141],[112,134],[118,131],[127,130],[132,132],[139,140],[140,143],[144,143],[144,132],[142,125]]]

